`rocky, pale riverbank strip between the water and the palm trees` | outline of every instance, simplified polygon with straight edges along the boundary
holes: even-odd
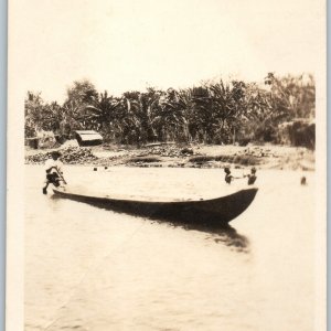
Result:
[[[53,150],[53,149],[52,149]],[[26,164],[42,164],[51,149],[25,150]],[[256,167],[277,170],[314,170],[314,152],[307,148],[248,145],[241,146],[179,146],[151,143],[141,148],[118,146],[78,147],[70,141],[56,149],[65,164],[95,167],[170,167],[170,168],[224,168]]]

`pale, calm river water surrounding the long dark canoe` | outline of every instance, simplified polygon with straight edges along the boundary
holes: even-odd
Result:
[[[192,228],[43,195],[26,166],[25,330],[313,330],[314,173],[258,171],[229,229]],[[242,170],[237,170],[242,174]],[[217,195],[215,169],[67,167],[72,185]],[[246,185],[237,181],[235,185]],[[232,186],[233,189],[233,186]]]

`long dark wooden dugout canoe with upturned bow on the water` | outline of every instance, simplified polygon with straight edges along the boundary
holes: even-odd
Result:
[[[227,224],[249,206],[258,189],[244,189],[228,195],[206,200],[95,195],[68,188],[54,188],[53,191],[57,197],[150,218]]]

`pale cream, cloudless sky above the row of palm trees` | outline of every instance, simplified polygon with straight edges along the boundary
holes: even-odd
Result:
[[[9,62],[22,88],[49,102],[62,103],[73,82],[85,78],[98,92],[120,95],[220,77],[261,82],[268,72],[314,73],[322,53],[324,8],[316,0],[12,3]]]

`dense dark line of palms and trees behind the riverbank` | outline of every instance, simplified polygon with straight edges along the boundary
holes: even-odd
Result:
[[[141,145],[153,141],[247,143],[279,142],[279,126],[311,119],[316,109],[312,75],[278,77],[263,85],[243,81],[207,82],[195,87],[98,93],[87,79],[74,82],[65,102],[45,102],[28,92],[25,138],[53,131],[60,141],[75,130],[96,130],[105,141]]]

